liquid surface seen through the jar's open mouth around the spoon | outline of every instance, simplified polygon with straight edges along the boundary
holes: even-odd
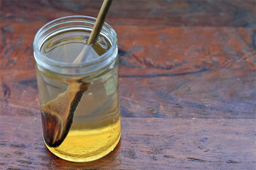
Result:
[[[41,47],[41,52],[47,57],[61,61],[73,62],[83,48],[88,48],[90,55],[85,55],[83,61],[90,61],[104,54],[110,48],[110,42],[99,36],[94,45],[86,45],[90,33],[85,31],[66,31],[47,39]]]

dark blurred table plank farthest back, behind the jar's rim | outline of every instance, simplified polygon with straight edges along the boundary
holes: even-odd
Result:
[[[2,0],[3,19],[18,23],[49,22],[67,15],[97,17],[102,1]],[[111,5],[107,23],[125,26],[232,26],[255,27],[253,0],[116,0]],[[10,12],[12,11],[12,12]],[[30,15],[26,12],[30,11]],[[6,15],[7,14],[7,15]],[[24,23],[25,22],[25,23]],[[12,23],[9,21],[9,23]],[[32,24],[32,23],[30,23]]]

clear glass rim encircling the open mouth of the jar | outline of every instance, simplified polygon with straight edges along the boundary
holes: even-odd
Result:
[[[105,29],[105,31],[108,31],[111,34],[112,37],[112,41],[111,43],[111,47],[108,49],[108,51],[106,51],[104,54],[100,55],[99,57],[97,57],[96,59],[92,59],[90,61],[83,61],[83,62],[78,62],[78,63],[73,63],[73,62],[61,62],[61,61],[57,61],[54,59],[51,59],[49,57],[47,57],[45,54],[43,54],[40,51],[41,45],[42,45],[42,40],[40,41],[40,37],[42,36],[43,33],[45,33],[45,31],[47,31],[47,29],[49,28],[53,28],[56,25],[60,25],[61,23],[65,23],[65,22],[88,22],[90,24],[95,24],[96,18],[94,17],[89,17],[89,16],[82,16],[82,15],[73,15],[73,16],[67,16],[67,17],[61,17],[55,20],[50,21],[49,23],[45,24],[44,26],[42,26],[38,32],[35,35],[35,39],[33,42],[33,47],[34,47],[34,57],[36,62],[38,62],[38,60],[43,60],[43,62],[47,62],[48,65],[52,65],[55,67],[60,67],[60,68],[81,68],[81,67],[87,67],[87,66],[92,66],[92,65],[96,65],[99,64],[101,62],[104,62],[106,59],[109,58],[109,56],[111,55],[111,53],[113,53],[113,51],[117,51],[115,50],[115,48],[117,49],[117,36],[116,36],[116,32],[114,31],[114,29],[108,24],[108,23],[104,23],[103,28]],[[101,31],[102,33],[102,31]],[[49,35],[49,34],[48,34]],[[44,36],[46,37],[46,36]],[[36,57],[37,56],[37,57]],[[38,58],[38,56],[40,56],[41,58]]]

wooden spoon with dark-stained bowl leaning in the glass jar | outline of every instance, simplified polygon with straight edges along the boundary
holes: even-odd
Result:
[[[104,0],[87,45],[85,45],[73,63],[81,62],[84,57],[90,55],[91,50],[93,50],[92,45],[98,40],[111,2],[112,0]],[[82,82],[81,79],[71,82],[67,87],[67,91],[59,94],[47,104],[41,105],[44,141],[49,147],[58,147],[67,137],[73,124],[76,108],[84,91],[87,91],[89,86],[90,83]]]

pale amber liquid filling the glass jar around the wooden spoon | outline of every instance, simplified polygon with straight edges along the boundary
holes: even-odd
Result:
[[[49,58],[73,62],[88,37],[89,34],[84,31],[57,34],[44,42],[41,51]],[[110,48],[110,43],[104,37],[99,37],[93,48],[101,55]],[[78,104],[67,137],[58,147],[47,145],[52,153],[69,161],[84,162],[99,159],[113,150],[121,134],[116,69],[117,64],[114,64],[111,69],[102,71],[96,77],[84,77],[84,81],[90,81],[90,87]],[[38,67],[37,79],[41,105],[67,90],[67,82]]]

